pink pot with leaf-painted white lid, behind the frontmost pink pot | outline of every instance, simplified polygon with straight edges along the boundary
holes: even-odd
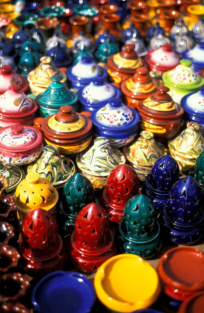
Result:
[[[19,85],[11,85],[0,95],[1,128],[15,124],[32,125],[36,117],[38,105],[35,100],[28,98]]]

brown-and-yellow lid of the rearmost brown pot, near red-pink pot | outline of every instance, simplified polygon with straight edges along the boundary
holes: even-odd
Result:
[[[124,74],[134,74],[135,70],[143,65],[142,59],[138,57],[134,49],[134,44],[126,44],[125,49],[120,53],[111,55],[108,58],[108,67]]]

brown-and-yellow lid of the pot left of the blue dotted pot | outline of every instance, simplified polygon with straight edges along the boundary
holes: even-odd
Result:
[[[46,136],[66,141],[85,136],[91,128],[91,120],[85,115],[78,115],[70,105],[61,106],[57,114],[46,117],[42,124]]]

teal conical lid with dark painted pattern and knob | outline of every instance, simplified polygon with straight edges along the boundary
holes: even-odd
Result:
[[[61,83],[62,76],[55,74],[50,78],[53,81],[48,88],[36,98],[39,105],[46,107],[60,107],[62,105],[74,105],[78,96]]]

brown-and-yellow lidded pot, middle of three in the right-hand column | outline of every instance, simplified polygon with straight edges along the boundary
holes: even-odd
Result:
[[[122,94],[126,98],[125,104],[137,109],[137,105],[153,95],[159,85],[160,82],[151,78],[145,67],[139,67],[131,78],[124,80],[121,84]]]

